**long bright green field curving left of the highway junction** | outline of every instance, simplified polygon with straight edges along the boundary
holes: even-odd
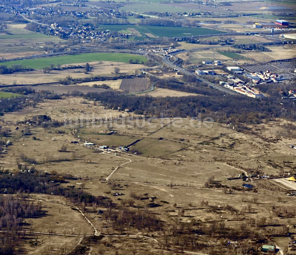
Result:
[[[133,55],[126,53],[86,53],[79,55],[65,55],[57,57],[48,57],[48,58],[35,58],[35,59],[24,59],[16,61],[8,61],[4,64],[6,66],[12,66],[14,64],[22,64],[27,68],[42,69],[45,66],[50,66],[51,63],[57,64],[73,64],[73,63],[86,63],[92,61],[114,61],[114,62],[123,62],[128,63],[128,60],[132,58],[135,60],[139,59],[139,63],[142,61],[145,63],[147,58],[142,55]]]

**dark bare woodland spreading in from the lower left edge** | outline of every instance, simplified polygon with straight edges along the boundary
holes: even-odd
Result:
[[[23,168],[23,167],[21,167]],[[22,193],[43,193],[62,195],[71,203],[85,209],[86,205],[100,207],[112,207],[112,200],[103,196],[93,196],[75,186],[62,187],[59,183],[64,182],[61,176],[17,173],[9,175],[0,169],[0,193],[22,194]],[[69,176],[67,176],[69,178]],[[9,232],[0,233],[0,254],[22,254],[23,248],[16,246],[20,238],[26,234],[22,228],[21,217],[36,217],[41,212],[41,203],[33,203],[18,199],[16,196],[0,196],[0,230]]]

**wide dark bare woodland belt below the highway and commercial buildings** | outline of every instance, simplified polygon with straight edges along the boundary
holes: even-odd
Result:
[[[130,111],[142,111],[150,116],[187,117],[203,113],[207,117],[225,123],[254,123],[259,124],[264,119],[286,117],[295,119],[291,112],[278,107],[266,99],[254,100],[239,95],[223,95],[217,92],[212,96],[160,97],[149,95],[141,98],[126,96],[118,92],[95,93],[89,92],[85,98],[101,101],[106,107],[121,107]],[[295,107],[295,106],[294,106]]]

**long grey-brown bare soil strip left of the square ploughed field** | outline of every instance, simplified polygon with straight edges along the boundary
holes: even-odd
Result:
[[[72,91],[80,91],[83,94],[86,94],[88,92],[104,92],[107,91],[105,89],[100,89],[100,88],[93,88],[93,87],[87,87],[87,86],[65,86],[65,85],[58,85],[58,86],[54,86],[54,85],[40,85],[40,86],[26,86],[26,87],[30,87],[33,90],[49,90],[49,91],[54,91],[55,93],[58,94],[66,94],[68,91],[72,92]]]

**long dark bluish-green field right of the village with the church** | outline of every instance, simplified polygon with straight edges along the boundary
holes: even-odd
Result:
[[[179,36],[198,36],[208,34],[224,33],[223,31],[200,27],[163,27],[163,26],[144,26],[144,25],[100,25],[100,28],[111,31],[121,31],[135,28],[142,36],[152,34],[159,37],[179,37]]]

